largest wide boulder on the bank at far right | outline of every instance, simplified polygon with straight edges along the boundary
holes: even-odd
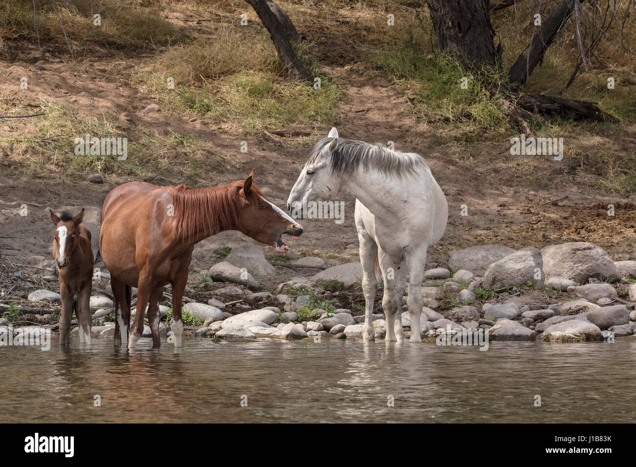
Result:
[[[587,242],[562,243],[541,250],[546,276],[567,277],[579,283],[590,278],[619,280],[614,262],[603,248]]]

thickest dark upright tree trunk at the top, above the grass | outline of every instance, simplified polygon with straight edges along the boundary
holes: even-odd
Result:
[[[495,50],[488,0],[426,0],[426,3],[439,50],[455,55],[469,69],[499,64],[501,46]]]

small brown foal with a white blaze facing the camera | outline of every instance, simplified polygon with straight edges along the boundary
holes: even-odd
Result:
[[[93,250],[90,247],[90,231],[81,226],[84,219],[82,209],[73,217],[62,212],[57,217],[48,210],[55,225],[53,238],[53,258],[60,280],[62,312],[60,313],[60,346],[69,346],[69,328],[73,310],[78,318],[79,342],[90,344],[90,292],[93,290]],[[73,296],[77,294],[77,298]]]

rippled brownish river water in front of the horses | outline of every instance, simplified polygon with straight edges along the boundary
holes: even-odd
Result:
[[[636,421],[632,341],[491,342],[488,351],[336,340],[150,345],[1,347],[0,422]]]

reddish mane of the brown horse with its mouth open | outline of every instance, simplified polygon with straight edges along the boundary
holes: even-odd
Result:
[[[239,191],[243,184],[243,180],[238,180],[215,188],[187,189],[185,185],[171,187],[173,222],[177,236],[187,240],[197,232],[205,231],[214,235],[223,226],[232,226],[237,218],[241,200]],[[252,184],[247,200],[258,203],[259,196],[265,198]]]

